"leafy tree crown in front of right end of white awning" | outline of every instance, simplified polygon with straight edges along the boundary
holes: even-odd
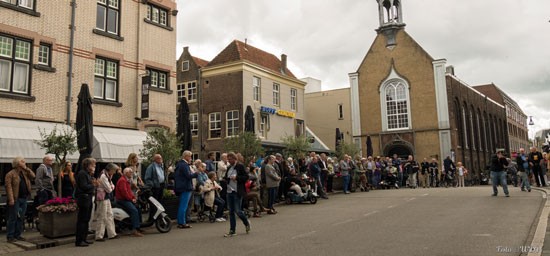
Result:
[[[147,131],[139,156],[143,159],[142,166],[148,166],[153,155],[160,154],[164,160],[164,167],[168,168],[181,158],[180,150],[181,144],[176,133],[164,128],[153,128]]]

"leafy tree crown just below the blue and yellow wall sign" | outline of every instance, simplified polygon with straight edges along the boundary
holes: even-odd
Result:
[[[225,138],[223,142],[225,151],[241,153],[246,163],[264,153],[262,141],[253,132],[242,132],[237,136]]]

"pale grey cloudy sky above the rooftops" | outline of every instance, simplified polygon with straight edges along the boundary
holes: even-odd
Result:
[[[178,49],[211,60],[232,40],[288,55],[299,78],[349,87],[378,28],[375,0],[177,0]],[[402,0],[405,30],[470,85],[495,83],[550,128],[549,0]],[[533,134],[531,133],[531,137]]]

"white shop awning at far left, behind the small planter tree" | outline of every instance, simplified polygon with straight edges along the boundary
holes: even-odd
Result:
[[[41,140],[40,131],[50,133],[56,127],[60,132],[73,131],[61,123],[0,118],[0,163],[11,163],[16,156],[24,157],[27,163],[42,163],[46,150],[35,141]],[[67,159],[77,161],[78,152]]]

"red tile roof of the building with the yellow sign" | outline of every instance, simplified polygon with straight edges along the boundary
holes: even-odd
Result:
[[[234,40],[227,47],[225,47],[223,51],[221,51],[212,61],[208,63],[207,67],[239,60],[247,60],[277,74],[296,79],[294,74],[292,74],[288,68],[285,68],[284,73],[281,72],[282,62],[275,55],[260,50],[250,44],[245,44],[239,40]]]

